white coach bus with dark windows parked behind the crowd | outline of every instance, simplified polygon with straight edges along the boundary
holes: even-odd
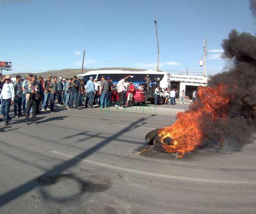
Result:
[[[143,84],[145,83],[145,77],[146,75],[149,75],[149,78],[152,82],[152,84],[150,84],[150,91],[147,92],[147,97],[148,97],[148,101],[150,101],[151,103],[153,103],[155,100],[154,97],[154,92],[155,92],[155,88],[156,85],[154,84],[155,82],[155,78],[160,78],[160,87],[163,89],[163,91],[165,91],[165,88],[170,88],[170,73],[167,72],[163,72],[163,71],[154,71],[154,70],[147,70],[147,71],[123,71],[123,70],[95,70],[95,71],[89,71],[86,72],[84,74],[78,74],[77,79],[81,79],[84,80],[84,84],[86,84],[86,82],[89,80],[90,76],[93,76],[95,79],[98,79],[100,82],[101,76],[105,76],[106,79],[109,76],[111,79],[113,79],[113,84],[116,85],[119,78],[124,78],[126,76],[132,75],[133,78],[128,78],[127,81],[133,82],[133,85],[135,86],[135,88],[138,87],[139,83]],[[144,90],[146,91],[146,87],[144,87]],[[161,100],[163,98],[161,97]],[[158,101],[159,103],[164,103],[164,99],[163,102]]]

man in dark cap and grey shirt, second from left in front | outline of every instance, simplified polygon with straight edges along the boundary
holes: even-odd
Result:
[[[21,117],[21,105],[22,105],[22,85],[20,83],[20,75],[16,76],[16,81],[13,84],[13,88],[14,88],[14,115],[15,118],[19,118]],[[18,109],[18,113],[17,113],[17,109]]]

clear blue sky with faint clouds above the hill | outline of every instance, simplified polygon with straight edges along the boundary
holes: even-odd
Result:
[[[0,61],[13,73],[81,68],[84,50],[84,68],[156,69],[156,20],[159,70],[203,75],[206,38],[206,73],[214,74],[232,29],[255,34],[249,0],[12,0],[0,8]]]

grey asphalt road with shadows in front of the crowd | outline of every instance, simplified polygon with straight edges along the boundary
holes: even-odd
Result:
[[[11,107],[13,109],[13,106]],[[256,144],[241,152],[157,152],[145,135],[188,104],[42,112],[0,123],[0,213],[255,213]],[[11,111],[13,117],[13,111]]]

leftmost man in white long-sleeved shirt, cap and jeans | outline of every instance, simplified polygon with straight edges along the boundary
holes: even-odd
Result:
[[[2,99],[2,108],[5,116],[5,123],[3,126],[8,126],[8,123],[12,119],[9,116],[9,111],[10,111],[10,106],[13,104],[15,94],[14,94],[13,84],[11,83],[11,76],[6,75],[4,80],[5,80],[5,84],[3,85],[3,88],[2,88],[0,100]]]

